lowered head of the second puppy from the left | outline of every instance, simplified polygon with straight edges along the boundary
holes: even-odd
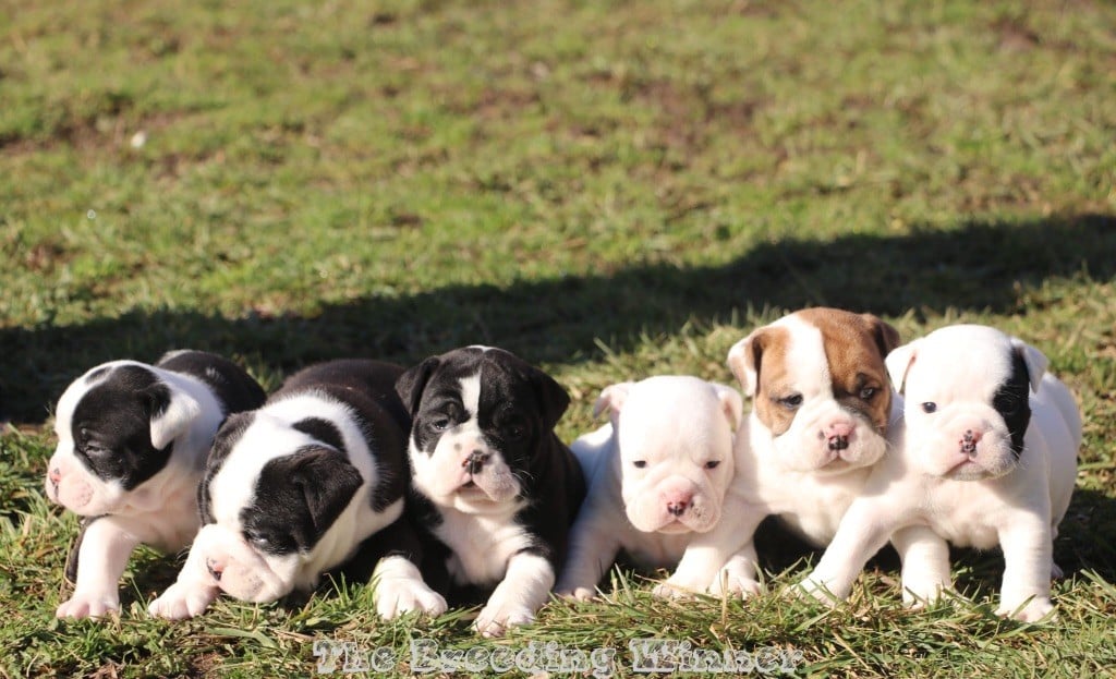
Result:
[[[312,586],[320,564],[311,553],[364,484],[336,419],[305,414],[321,404],[301,401],[230,417],[199,486],[203,525],[191,557],[199,551],[212,583],[243,601]]]

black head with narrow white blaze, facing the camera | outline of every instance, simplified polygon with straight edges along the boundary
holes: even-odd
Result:
[[[426,358],[396,391],[411,412],[414,486],[436,505],[506,511],[533,487],[543,440],[569,405],[542,371],[499,348]]]

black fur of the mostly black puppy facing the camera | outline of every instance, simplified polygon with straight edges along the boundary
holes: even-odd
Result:
[[[478,373],[478,423],[488,443],[500,451],[516,475],[522,488],[519,499],[527,501],[512,520],[533,538],[527,551],[546,557],[558,573],[566,557],[569,526],[586,491],[577,459],[554,432],[569,405],[561,385],[502,350],[468,347],[426,358],[396,383],[414,418],[412,440],[430,455],[446,431],[473,417],[462,402],[460,381]],[[435,563],[424,564],[424,568],[431,572],[427,582],[434,584],[450,556],[449,547],[433,533],[443,520],[440,509],[415,489],[407,509],[432,543],[426,546],[431,554],[427,562]]]

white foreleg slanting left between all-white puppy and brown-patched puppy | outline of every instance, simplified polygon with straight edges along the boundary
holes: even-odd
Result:
[[[724,517],[711,530],[694,536],[674,573],[656,585],[653,593],[664,599],[679,599],[695,592],[706,592],[720,580],[721,570],[737,555],[742,557],[733,562],[734,571],[730,572],[730,576],[745,575],[733,585],[735,591],[745,593],[758,587],[759,583],[747,576],[749,568],[745,561],[750,560],[752,565],[756,563],[756,548],[752,547],[749,552],[747,544],[751,542],[761,520],[763,515],[759,511],[725,511]]]

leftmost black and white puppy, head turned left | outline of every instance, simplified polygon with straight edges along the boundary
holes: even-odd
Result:
[[[230,413],[263,399],[231,361],[195,351],[171,352],[155,365],[104,363],[66,389],[46,492],[86,518],[66,563],[74,595],[58,618],[117,611],[117,582],[141,543],[172,554],[190,544],[213,434]]]

